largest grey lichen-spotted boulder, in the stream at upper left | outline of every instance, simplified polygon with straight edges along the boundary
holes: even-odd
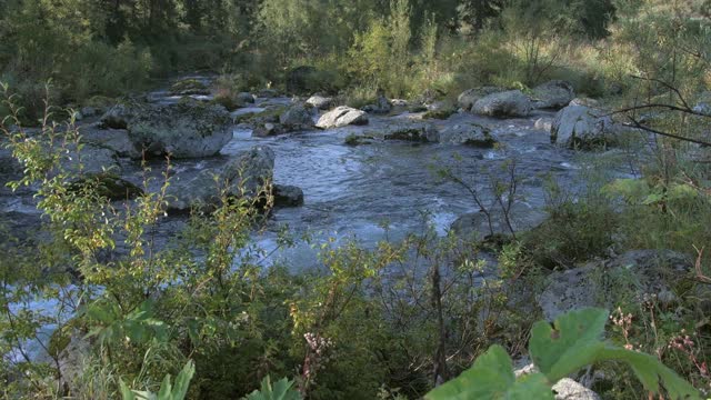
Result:
[[[172,104],[118,104],[101,119],[103,128],[126,129],[147,157],[210,157],[232,139],[232,119],[221,106],[183,99]]]

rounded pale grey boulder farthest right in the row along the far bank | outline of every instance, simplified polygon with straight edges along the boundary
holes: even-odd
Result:
[[[551,127],[551,142],[571,149],[592,149],[614,142],[612,118],[584,106],[568,106],[560,110]]]

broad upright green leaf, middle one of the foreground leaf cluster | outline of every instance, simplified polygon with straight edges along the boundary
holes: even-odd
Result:
[[[601,338],[607,321],[608,311],[589,308],[561,316],[554,327],[537,322],[529,342],[533,363],[549,381],[558,382],[594,362],[604,348]]]

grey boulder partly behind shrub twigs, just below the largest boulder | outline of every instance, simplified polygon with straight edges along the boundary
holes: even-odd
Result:
[[[223,169],[204,169],[188,179],[178,177],[168,188],[168,210],[210,212],[219,206],[221,193],[236,198],[260,197],[271,183],[273,169],[274,152],[268,147],[254,147]]]

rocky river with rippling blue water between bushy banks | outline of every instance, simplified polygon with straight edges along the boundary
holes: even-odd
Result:
[[[204,88],[210,84],[209,77],[192,79]],[[458,230],[484,236],[488,228],[471,196],[437,171],[450,169],[489,202],[492,180],[505,181],[509,171],[502,166],[512,160],[520,180],[512,222],[515,229],[531,228],[545,217],[544,179],[574,184],[580,167],[571,148],[599,143],[612,131],[609,118],[580,100],[557,113],[574,94],[555,82],[537,88],[532,99],[492,88],[467,91],[457,112],[438,112],[444,119],[425,119],[441,107],[435,102],[413,107],[380,99],[365,112],[337,107],[331,98],[304,101],[271,91],[240,93],[234,101],[243,107],[229,113],[211,102],[209,90],[180,89],[151,92],[108,110],[82,110],[86,171],[110,168],[140,187],[144,153],[156,178],[150,189],[157,190],[163,154],[172,153],[170,216],[159,231],[168,237],[184,221],[184,211],[210,202],[212,176],[224,177],[230,169],[234,176],[236,168],[247,168],[253,176],[249,190],[268,179],[283,194],[258,239],[267,250],[277,247],[283,224],[317,241],[358,239],[365,246],[385,234],[397,240],[420,231],[424,221],[441,234],[454,223]],[[558,143],[551,141],[551,130]],[[13,164],[8,152],[2,157],[2,181],[17,178],[18,169],[8,167]],[[0,214],[11,226],[34,226],[34,201],[31,189],[13,193],[3,188]],[[503,230],[500,222],[497,230]],[[288,259],[294,269],[309,268],[316,252],[297,242],[272,261],[279,259]]]

